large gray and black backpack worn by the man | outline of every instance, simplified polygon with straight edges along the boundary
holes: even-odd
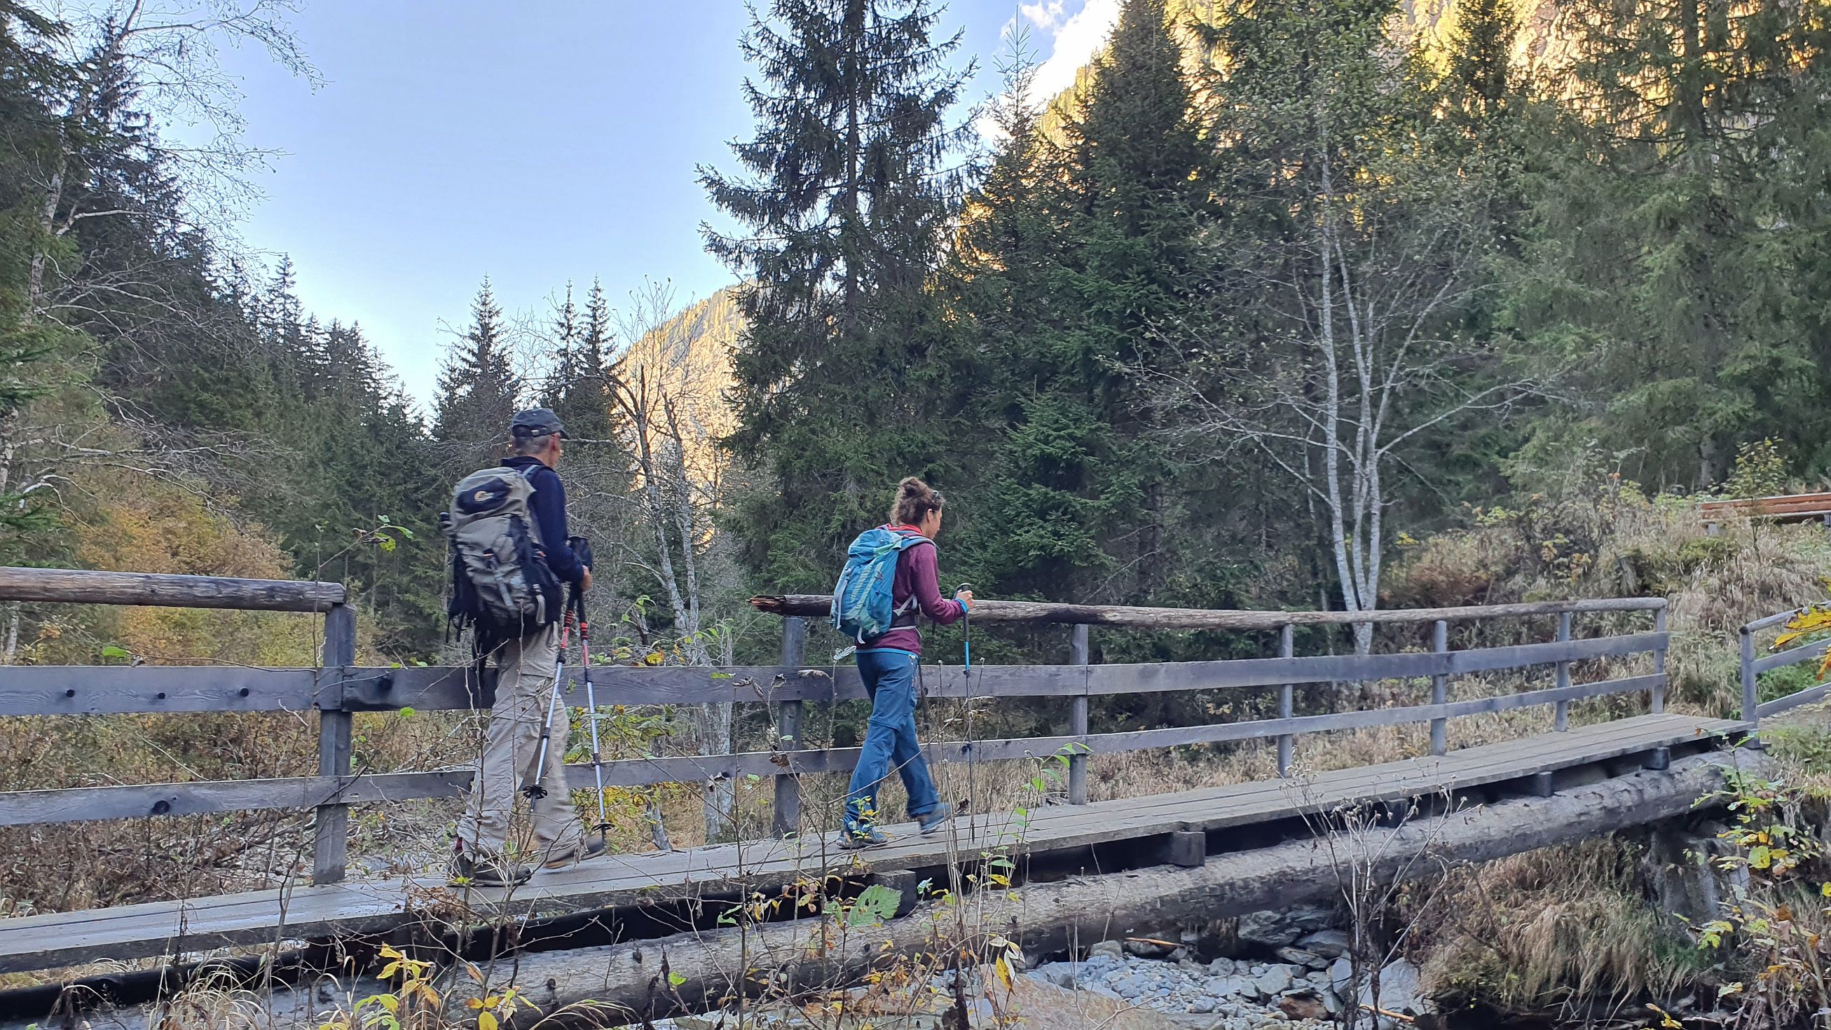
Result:
[[[558,576],[527,509],[533,483],[516,468],[480,468],[458,481],[441,520],[452,553],[447,615],[480,637],[524,637],[564,615]]]

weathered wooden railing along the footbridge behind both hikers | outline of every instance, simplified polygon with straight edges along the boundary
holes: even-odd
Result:
[[[317,776],[205,783],[159,783],[128,787],[81,787],[0,794],[0,825],[64,823],[185,816],[256,809],[315,809],[317,836],[313,880],[344,876],[348,807],[412,798],[454,798],[469,790],[471,768],[438,772],[366,772],[352,767],[352,715],[355,712],[419,712],[487,708],[493,684],[476,681],[469,668],[375,668],[355,664],[355,617],[339,584],[271,580],[216,580],[201,576],[143,576],[132,573],[81,573],[0,569],[0,600],[152,604],[178,607],[244,607],[260,611],[324,613],[324,649],[319,668],[194,668],[194,666],[7,666],[0,668],[0,715],[106,715],[187,712],[319,712]],[[846,772],[857,748],[802,748],[804,706],[862,699],[857,670],[806,662],[806,617],[824,613],[828,598],[760,598],[760,607],[785,617],[782,660],[775,666],[725,668],[623,668],[595,666],[593,684],[601,706],[610,704],[769,704],[780,750],[723,756],[635,757],[602,763],[604,785],[703,783],[716,778],[773,778],[775,823],[782,834],[796,832],[802,774]],[[1221,741],[1276,739],[1280,776],[1289,772],[1295,739],[1302,734],[1430,723],[1432,754],[1445,754],[1448,721],[1465,715],[1549,704],[1555,726],[1569,724],[1573,701],[1646,693],[1653,712],[1664,706],[1663,598],[1611,598],[1540,602],[1448,609],[1337,613],[1337,611],[1196,611],[1119,609],[1097,606],[1035,606],[981,602],[976,622],[1053,622],[1071,626],[1066,666],[925,666],[923,682],[934,697],[1033,697],[1062,699],[1069,706],[1069,732],[1056,737],[950,741],[928,745],[936,761],[1000,761],[1067,752],[1069,801],[1086,803],[1088,756]],[[1586,613],[1652,613],[1650,631],[1608,637],[1573,637],[1573,617]],[[1452,651],[1448,624],[1505,617],[1558,617],[1553,640],[1501,648]],[[1430,651],[1370,655],[1296,655],[1296,626],[1432,624]],[[1274,629],[1278,657],[1210,662],[1089,664],[1088,626],[1174,629]],[[1573,682],[1571,664],[1593,659],[1652,655],[1642,675]],[[1555,686],[1450,699],[1457,675],[1549,666]],[[582,706],[577,670],[568,668],[568,701]],[[1368,708],[1315,715],[1295,713],[1295,686],[1311,682],[1362,682],[1382,679],[1430,679],[1430,704]],[[1221,688],[1278,688],[1278,715],[1240,723],[1172,726],[1111,734],[1088,732],[1091,697]],[[573,789],[595,783],[590,765],[568,767]]]

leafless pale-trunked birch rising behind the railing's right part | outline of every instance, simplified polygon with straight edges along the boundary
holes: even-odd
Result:
[[[1346,611],[1379,607],[1406,448],[1531,390],[1457,317],[1483,285],[1483,185],[1432,117],[1415,53],[1366,7],[1238,0],[1236,60],[1210,93],[1223,163],[1249,183],[1223,229],[1225,317],[1165,327],[1181,360],[1143,370],[1170,434],[1252,448],[1309,498]],[[1355,648],[1371,626],[1355,628]]]

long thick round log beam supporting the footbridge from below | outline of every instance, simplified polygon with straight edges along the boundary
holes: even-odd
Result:
[[[1721,759],[1716,759],[1721,761]],[[1362,853],[1276,843],[1229,854],[1192,869],[1154,869],[1146,876],[1073,876],[987,893],[981,918],[1016,946],[1056,953],[1086,940],[1150,933],[1203,918],[1243,915],[1302,900],[1340,895],[1346,867],[1390,884],[1436,874],[1439,864],[1476,864],[1547,847],[1617,827],[1683,816],[1696,798],[1723,785],[1710,757],[1683,763],[1672,776],[1639,774],[1582,787],[1564,798],[1523,798],[1472,812],[1368,831]],[[604,1004],[659,1021],[683,1012],[716,1010],[723,999],[756,993],[751,968],[769,968],[785,982],[850,984],[881,970],[886,955],[934,951],[934,924],[943,911],[921,907],[872,933],[831,935],[817,920],[771,922],[743,929],[681,933],[663,940],[619,942],[580,951],[527,955],[524,982],[551,992],[551,1008]],[[764,955],[767,959],[758,959]],[[655,992],[659,968],[672,992]],[[1406,1017],[1410,1023],[1410,1017]],[[1086,1025],[1099,1025],[1088,1019]],[[1165,1021],[1168,1025],[1168,1021]]]

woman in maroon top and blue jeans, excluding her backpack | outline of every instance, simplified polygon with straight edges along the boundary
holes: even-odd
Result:
[[[936,794],[928,776],[928,759],[916,741],[916,666],[921,662],[921,633],[916,629],[916,611],[939,626],[956,622],[972,606],[972,591],[959,591],[954,600],[941,596],[936,571],[934,538],[941,532],[939,492],[910,476],[897,483],[897,499],[890,509],[890,523],[883,529],[905,536],[908,543],[897,554],[892,582],[892,609],[897,613],[890,631],[866,640],[857,649],[859,677],[872,695],[872,721],[864,730],[859,765],[851,770],[851,789],[846,792],[846,827],[840,847],[879,847],[890,838],[877,829],[877,787],[895,768],[908,790],[908,812],[923,834],[939,831],[954,807]],[[914,602],[914,604],[912,604]]]

